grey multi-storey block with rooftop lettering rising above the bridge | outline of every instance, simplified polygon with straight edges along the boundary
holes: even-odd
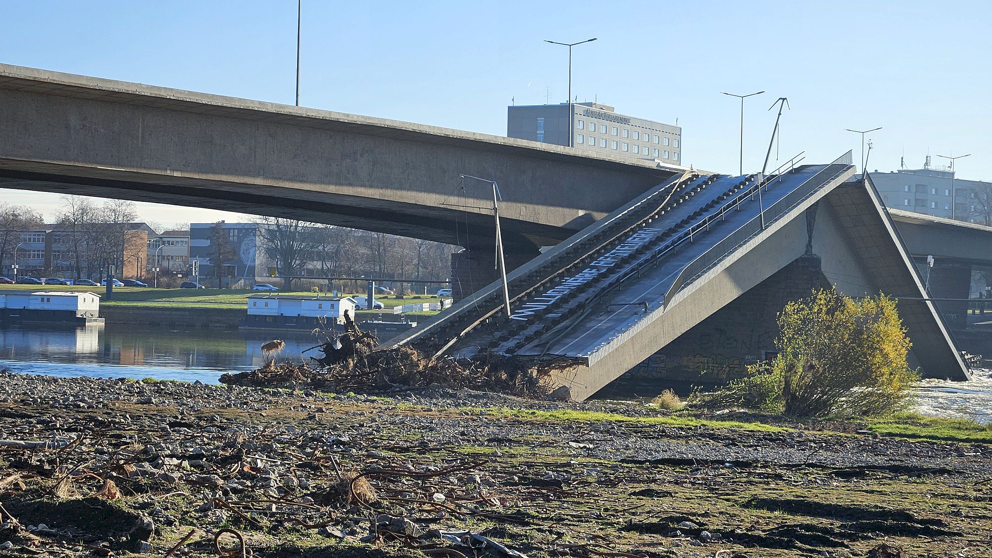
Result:
[[[627,116],[595,102],[507,107],[508,137],[567,146],[569,129],[576,149],[682,165],[679,126]]]

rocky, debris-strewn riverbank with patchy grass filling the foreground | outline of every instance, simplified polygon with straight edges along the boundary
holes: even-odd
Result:
[[[0,553],[990,555],[984,440],[728,418],[0,372]]]

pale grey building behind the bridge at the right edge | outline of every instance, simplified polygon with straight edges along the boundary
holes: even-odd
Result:
[[[869,175],[889,208],[951,218],[954,204],[953,218],[992,224],[992,208],[987,207],[992,201],[992,183],[951,180],[950,171],[933,168],[875,171]]]

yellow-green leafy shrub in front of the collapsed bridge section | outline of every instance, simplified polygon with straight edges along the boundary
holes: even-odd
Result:
[[[823,417],[902,410],[919,379],[911,347],[886,296],[854,300],[835,289],[789,303],[779,315],[779,354],[703,403]]]

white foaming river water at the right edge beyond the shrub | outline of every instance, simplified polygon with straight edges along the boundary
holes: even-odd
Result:
[[[992,423],[992,369],[972,368],[968,381],[925,379],[916,410],[922,414]]]

